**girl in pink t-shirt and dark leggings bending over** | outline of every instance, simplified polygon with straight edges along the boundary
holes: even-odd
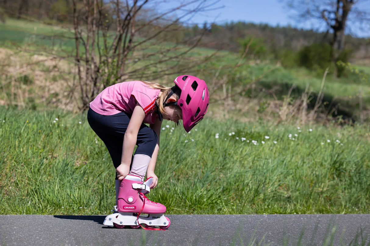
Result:
[[[176,125],[182,120],[185,131],[189,132],[203,119],[207,111],[209,95],[203,80],[195,76],[181,75],[176,77],[174,82],[173,87],[164,87],[146,81],[118,83],[105,88],[90,103],[88,122],[107,146],[116,169],[118,212],[132,212],[125,210],[128,207],[135,207],[138,210],[136,206],[126,205],[135,203],[131,200],[143,200],[142,198],[135,195],[131,197],[132,199],[121,199],[120,195],[118,199],[118,194],[121,192],[125,193],[122,196],[129,196],[126,193],[131,194],[131,191],[127,189],[134,189],[137,193],[145,192],[145,188],[148,191],[148,187],[143,186],[142,183],[145,173],[147,177],[152,177],[152,183],[146,184],[149,184],[150,188],[157,186],[158,177],[154,169],[159,150],[162,119],[174,121]],[[149,124],[149,127],[145,124]],[[137,149],[132,156],[135,145]],[[141,184],[140,187],[144,189],[135,189],[133,187],[137,186],[134,184],[131,188],[131,181]],[[122,200],[121,204],[118,200]],[[122,205],[122,202],[126,205]],[[160,207],[159,210],[165,211],[162,204],[158,207]],[[148,213],[152,213],[153,209]]]

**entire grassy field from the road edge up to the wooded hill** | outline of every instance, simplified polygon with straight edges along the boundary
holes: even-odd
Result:
[[[108,214],[115,170],[85,114],[67,110],[75,106],[66,100],[72,66],[16,51],[71,51],[73,41],[50,34],[67,32],[0,23],[0,214]],[[198,67],[212,92],[208,117],[189,134],[163,123],[159,185],[149,198],[169,214],[370,213],[370,83],[361,77],[369,68],[323,80],[268,62],[236,66],[239,57],[221,52]],[[301,121],[320,93],[327,115]],[[331,118],[333,108],[356,123]]]

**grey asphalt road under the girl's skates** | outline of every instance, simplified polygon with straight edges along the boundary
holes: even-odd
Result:
[[[166,216],[168,230],[147,231],[105,215],[0,215],[0,245],[370,245],[370,214]]]

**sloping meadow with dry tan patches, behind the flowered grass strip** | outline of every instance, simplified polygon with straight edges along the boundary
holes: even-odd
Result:
[[[71,63],[73,57],[50,62],[50,58],[53,57],[50,56],[51,53],[56,55],[73,54],[74,41],[70,39],[71,37],[70,30],[37,22],[9,19],[5,24],[0,23],[0,46],[5,47],[7,51],[0,50],[0,58],[3,60],[3,66],[0,67],[0,82],[2,84],[0,103],[4,101],[2,104],[5,104],[12,100],[10,104],[42,110],[45,107],[60,107],[67,101],[66,94],[74,94],[74,97],[78,98],[78,87],[73,87],[76,85],[72,83],[75,80],[75,76],[73,76],[75,68]],[[140,52],[150,53],[155,49],[167,46],[171,45],[159,46],[152,42],[142,47],[144,50],[139,51],[136,55],[140,55]],[[27,48],[29,53],[17,51],[19,47]],[[207,56],[213,52],[210,49],[196,48],[188,56]],[[153,56],[148,60],[128,66],[127,72],[147,63],[155,63],[156,59],[159,59],[158,56]],[[151,71],[159,71],[166,65],[173,65],[172,63],[152,67]],[[237,66],[238,64],[239,66]],[[256,62],[248,59],[240,61],[240,54],[220,51],[208,62],[196,67],[196,73],[199,77],[206,78],[209,83],[211,111],[214,111],[213,108],[215,110],[221,109],[221,111],[229,111],[227,115],[238,117],[243,114],[245,118],[253,120],[257,111],[259,113],[266,111],[265,114],[259,114],[258,117],[276,118],[280,114],[279,109],[282,108],[284,100],[292,104],[295,100],[299,101],[303,100],[303,97],[307,97],[305,103],[310,109],[314,107],[317,97],[321,94],[323,98],[320,101],[319,110],[325,114],[324,117],[328,115],[330,118],[333,112],[338,112],[339,115],[343,114],[353,121],[369,122],[370,70],[366,66],[351,66],[357,68],[359,73],[333,78],[332,71],[329,70],[323,81],[323,75],[307,69],[286,69],[276,65],[276,62],[269,61]],[[173,79],[172,76],[163,76],[159,80],[140,77],[140,74],[137,76],[139,77],[130,77],[130,79],[145,79],[165,85],[172,83]],[[260,79],[254,83],[254,89],[245,90],[257,78]],[[12,80],[15,80],[15,83],[11,84]],[[17,83],[21,83],[21,85]],[[26,89],[22,83],[31,86]],[[51,89],[47,87],[51,87]],[[11,95],[10,91],[16,92]],[[240,91],[243,92],[240,93]],[[236,96],[229,97],[230,95]],[[240,101],[239,95],[243,96],[242,101]],[[223,99],[217,100],[217,98]],[[240,112],[237,110],[237,106],[226,105],[225,99],[240,105],[249,105],[252,101],[253,105],[248,112]],[[63,106],[68,105],[68,109],[77,107],[69,102],[65,104]]]

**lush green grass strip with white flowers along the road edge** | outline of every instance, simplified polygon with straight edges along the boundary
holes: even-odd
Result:
[[[0,119],[0,214],[110,213],[115,170],[85,115],[1,108]],[[370,212],[369,126],[163,128],[149,198],[168,214]]]

